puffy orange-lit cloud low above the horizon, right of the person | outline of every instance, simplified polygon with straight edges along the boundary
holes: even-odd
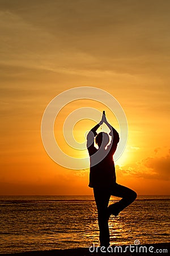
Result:
[[[140,162],[127,164],[126,166],[116,166],[118,175],[134,176],[144,179],[169,180],[170,154],[158,157],[148,157]]]

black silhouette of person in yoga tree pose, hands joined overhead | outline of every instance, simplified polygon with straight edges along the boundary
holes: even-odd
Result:
[[[111,132],[112,140],[109,143],[109,135],[104,132],[96,133],[96,130],[105,123]],[[94,146],[94,140],[99,147]],[[89,187],[94,189],[94,197],[98,212],[99,240],[100,246],[109,246],[108,220],[111,214],[117,216],[125,207],[128,207],[137,197],[130,188],[116,183],[116,172],[113,155],[119,142],[117,131],[108,123],[105,113],[101,121],[93,127],[87,135],[87,149],[90,155],[90,183]],[[112,196],[121,197],[117,203],[108,207],[109,199]]]

